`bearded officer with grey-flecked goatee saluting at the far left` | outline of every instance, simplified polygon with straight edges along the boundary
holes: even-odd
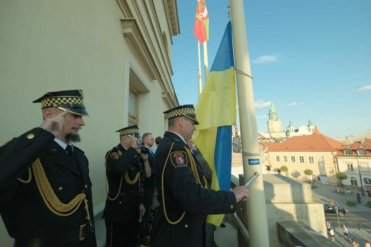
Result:
[[[44,122],[0,147],[0,214],[14,246],[96,246],[88,159],[71,142],[89,116],[81,90],[48,92]]]

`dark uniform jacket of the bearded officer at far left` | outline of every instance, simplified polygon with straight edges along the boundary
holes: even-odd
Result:
[[[0,214],[9,236],[17,240],[62,234],[88,223],[84,202],[72,215],[58,216],[45,205],[33,173],[29,183],[17,180],[29,178],[28,168],[37,158],[62,203],[68,204],[78,194],[86,194],[89,214],[93,220],[88,159],[83,151],[74,146],[76,165],[76,161],[54,138],[49,131],[33,128],[0,147]],[[63,246],[96,246],[95,234],[89,233],[85,240]]]

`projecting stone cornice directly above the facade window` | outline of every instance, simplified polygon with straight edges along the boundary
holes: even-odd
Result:
[[[150,80],[157,80],[160,72],[138,27],[137,21],[134,18],[127,18],[122,19],[121,24],[125,40],[137,59],[142,62],[146,74]]]

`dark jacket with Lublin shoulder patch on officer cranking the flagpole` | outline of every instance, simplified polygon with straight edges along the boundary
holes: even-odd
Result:
[[[170,149],[172,143],[174,145]],[[202,186],[205,185],[203,171],[196,158],[188,155],[187,149],[189,150],[188,145],[177,134],[166,131],[156,150],[155,183],[161,205],[151,232],[150,241],[153,247],[204,246],[205,216],[231,214],[235,211],[236,197],[233,192],[207,190],[196,183],[191,159],[196,162]],[[174,222],[185,212],[183,219],[177,224],[168,223],[162,205],[161,176],[165,163],[163,190],[167,217]]]

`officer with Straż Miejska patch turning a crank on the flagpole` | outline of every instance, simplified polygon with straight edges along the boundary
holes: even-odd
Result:
[[[155,183],[161,205],[152,225],[153,247],[205,246],[205,216],[232,214],[236,202],[249,197],[244,187],[207,190],[203,171],[185,143],[198,124],[194,112],[193,105],[164,112],[168,114],[168,131],[155,155]]]

